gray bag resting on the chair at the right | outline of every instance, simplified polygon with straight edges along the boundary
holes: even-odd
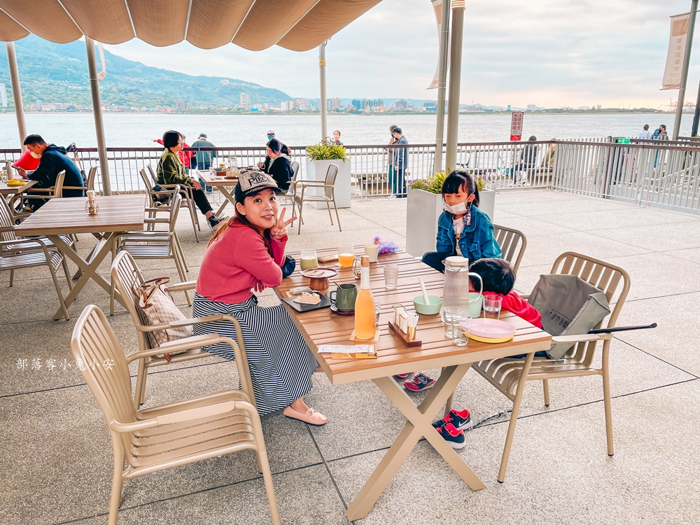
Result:
[[[605,294],[575,275],[540,275],[528,301],[542,314],[542,328],[552,335],[586,334],[610,314]],[[561,359],[573,345],[552,344],[547,356]]]

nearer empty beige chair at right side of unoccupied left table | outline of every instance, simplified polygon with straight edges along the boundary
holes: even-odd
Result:
[[[158,218],[146,218],[146,223],[165,222],[168,225],[168,231],[134,231],[124,232],[114,237],[113,253],[127,251],[131,253],[134,259],[172,259],[175,262],[175,267],[180,276],[180,281],[185,282],[185,273],[189,272],[185,253],[180,244],[180,239],[177,235],[176,225],[177,216],[180,210],[180,202],[182,194],[179,193],[179,185],[175,187],[175,193],[170,201],[169,218],[167,220]],[[187,304],[192,306],[192,300],[187,290],[184,290]],[[112,285],[112,293],[110,300],[110,314],[114,312],[114,285]]]

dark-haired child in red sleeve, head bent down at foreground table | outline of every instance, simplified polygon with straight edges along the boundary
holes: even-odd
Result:
[[[513,291],[515,272],[503,259],[479,259],[469,265],[469,271],[479,274],[484,281],[484,295],[497,295],[503,300],[500,307],[511,311],[537,328],[542,328],[542,314]],[[469,288],[474,290],[474,278],[469,278]]]

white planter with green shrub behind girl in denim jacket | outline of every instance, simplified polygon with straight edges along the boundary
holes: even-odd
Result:
[[[442,182],[445,172],[435,173],[428,179],[415,181],[408,188],[406,203],[406,251],[414,257],[435,251],[437,245],[437,218],[442,214]],[[475,176],[479,188],[479,209],[493,221],[496,192],[486,189],[486,181]]]

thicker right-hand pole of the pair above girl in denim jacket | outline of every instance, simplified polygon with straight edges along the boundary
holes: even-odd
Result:
[[[445,169],[457,165],[457,132],[459,125],[459,87],[462,74],[462,34],[465,0],[452,1],[452,29],[449,43],[449,97],[447,102],[447,153]]]

